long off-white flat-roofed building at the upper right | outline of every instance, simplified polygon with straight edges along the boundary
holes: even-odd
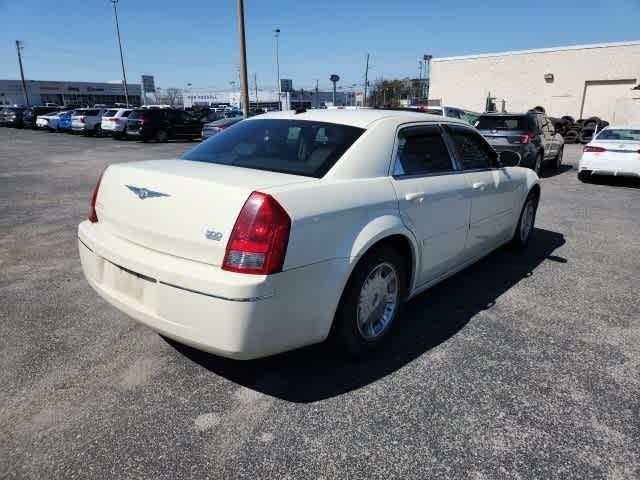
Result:
[[[511,112],[640,122],[640,41],[432,60],[430,103],[482,112],[489,94]]]

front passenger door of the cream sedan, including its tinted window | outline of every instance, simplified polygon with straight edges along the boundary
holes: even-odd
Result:
[[[520,183],[500,166],[496,152],[474,129],[448,125],[446,131],[471,189],[465,257],[474,258],[496,248],[511,234]]]

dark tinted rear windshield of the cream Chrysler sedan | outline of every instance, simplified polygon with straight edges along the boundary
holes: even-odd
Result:
[[[364,132],[309,120],[247,120],[183,155],[183,160],[323,177]]]

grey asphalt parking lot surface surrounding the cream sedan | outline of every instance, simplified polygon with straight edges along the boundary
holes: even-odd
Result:
[[[85,282],[112,162],[188,142],[0,129],[0,478],[640,478],[640,188],[543,178],[525,253],[411,301],[390,345],[233,362]],[[573,169],[572,169],[573,167]]]

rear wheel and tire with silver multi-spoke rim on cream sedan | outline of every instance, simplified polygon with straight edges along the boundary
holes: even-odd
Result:
[[[358,358],[386,340],[406,299],[406,272],[406,259],[390,246],[376,247],[362,257],[334,318],[332,338],[340,351]],[[390,296],[384,304],[383,292]],[[368,314],[363,312],[365,308]]]

